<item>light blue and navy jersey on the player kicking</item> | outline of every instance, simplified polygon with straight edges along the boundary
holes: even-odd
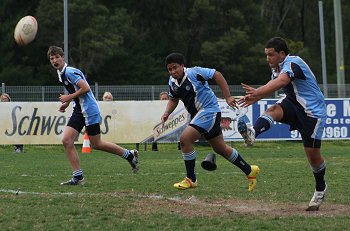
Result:
[[[304,108],[313,118],[326,118],[324,96],[317,85],[316,77],[309,66],[299,57],[288,55],[280,64],[280,72],[273,71],[272,76],[286,73],[291,82],[283,88],[286,97]]]

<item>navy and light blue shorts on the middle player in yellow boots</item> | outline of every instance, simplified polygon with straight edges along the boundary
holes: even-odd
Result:
[[[222,134],[221,112],[203,112],[197,115],[190,122],[190,126],[195,128],[206,139],[210,140]]]

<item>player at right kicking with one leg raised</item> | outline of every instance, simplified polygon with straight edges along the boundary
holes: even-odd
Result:
[[[238,103],[247,107],[281,88],[285,97],[269,107],[253,127],[247,128],[243,121],[238,121],[238,130],[249,145],[275,121],[290,125],[291,131],[298,130],[316,182],[307,210],[318,210],[327,190],[326,163],[320,151],[326,121],[324,96],[309,66],[300,57],[289,54],[283,38],[271,38],[265,46],[265,54],[272,69],[271,81],[259,88],[242,84],[246,95]]]

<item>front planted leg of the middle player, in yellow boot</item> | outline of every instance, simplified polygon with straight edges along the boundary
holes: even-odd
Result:
[[[187,126],[180,136],[182,158],[185,162],[186,177],[183,181],[174,184],[175,188],[188,189],[197,187],[197,178],[195,173],[196,151],[193,143],[201,138],[200,132],[193,126]]]

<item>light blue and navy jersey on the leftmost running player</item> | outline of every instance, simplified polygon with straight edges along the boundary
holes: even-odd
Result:
[[[57,73],[59,81],[69,94],[73,94],[79,90],[77,84],[80,80],[86,81],[84,74],[79,69],[67,66],[67,64],[62,72],[57,70]],[[73,111],[83,114],[86,126],[101,122],[100,109],[92,91],[74,99]]]

